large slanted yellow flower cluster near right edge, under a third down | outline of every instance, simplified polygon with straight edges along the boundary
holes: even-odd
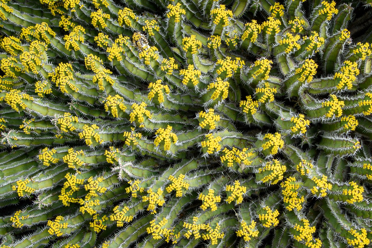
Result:
[[[344,65],[341,67],[340,72],[336,72],[333,77],[333,79],[339,81],[336,88],[342,89],[346,84],[347,89],[352,89],[353,82],[355,82],[357,75],[359,75],[358,64],[349,60],[344,61]]]

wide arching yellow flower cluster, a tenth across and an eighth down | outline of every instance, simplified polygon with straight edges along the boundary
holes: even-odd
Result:
[[[49,36],[55,37],[56,33],[49,27],[48,23],[36,23],[35,26],[29,26],[27,28],[22,28],[19,35],[20,39],[25,39],[28,42],[32,42],[31,37],[37,40],[43,40],[47,45],[50,44]]]

